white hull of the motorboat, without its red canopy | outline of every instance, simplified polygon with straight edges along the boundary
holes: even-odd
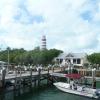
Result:
[[[77,86],[77,90],[75,90],[75,89],[70,88],[70,84],[64,83],[64,82],[57,82],[57,83],[54,83],[54,85],[63,92],[85,96],[89,98],[99,98],[100,97],[100,91],[96,89],[83,87],[83,86]]]

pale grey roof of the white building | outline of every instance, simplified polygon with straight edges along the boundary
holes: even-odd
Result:
[[[61,53],[57,58],[84,58],[86,53]]]

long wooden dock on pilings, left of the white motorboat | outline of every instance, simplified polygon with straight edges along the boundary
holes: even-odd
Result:
[[[52,82],[50,81],[50,74],[52,73],[61,72],[59,68],[47,69],[43,71],[39,69],[38,71],[26,71],[22,72],[21,70],[18,72],[17,70],[13,74],[5,74],[5,71],[0,76],[0,87],[5,89],[9,86],[9,82],[12,82],[14,89],[18,89],[22,86],[40,86],[42,80],[47,80],[47,83]],[[10,84],[11,85],[11,84]]]

